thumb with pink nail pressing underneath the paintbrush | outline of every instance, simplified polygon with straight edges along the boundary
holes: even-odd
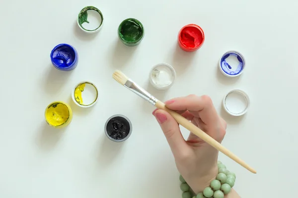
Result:
[[[173,155],[176,157],[183,154],[183,151],[185,151],[187,147],[187,143],[181,134],[176,120],[168,112],[161,109],[153,111],[152,114],[159,123]]]

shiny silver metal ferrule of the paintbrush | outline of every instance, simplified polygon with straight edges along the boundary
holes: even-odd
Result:
[[[147,100],[150,104],[155,106],[157,99],[153,97],[151,94],[149,94],[146,90],[144,90],[141,86],[139,86],[137,83],[132,81],[131,79],[128,79],[126,83],[124,84],[124,87],[128,88],[135,94],[137,94],[139,97]]]

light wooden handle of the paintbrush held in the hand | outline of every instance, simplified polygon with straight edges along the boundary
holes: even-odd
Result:
[[[188,121],[187,119],[185,119],[179,113],[177,113],[177,112],[175,112],[173,110],[168,109],[163,102],[161,102],[161,101],[158,100],[156,102],[156,104],[155,104],[155,107],[157,107],[158,109],[162,109],[162,110],[167,111],[169,114],[171,114],[171,116],[173,116],[173,118],[180,125],[182,125],[186,129],[188,129],[190,132],[192,132],[193,134],[195,134],[196,136],[198,136],[199,138],[201,138],[202,140],[204,140],[206,143],[208,143],[212,147],[214,147],[217,150],[221,151],[226,156],[228,156],[229,158],[231,158],[232,160],[234,160],[235,162],[237,162],[238,164],[240,164],[241,166],[243,166],[244,168],[246,168],[250,172],[257,173],[256,170],[254,170],[252,167],[250,167],[247,163],[245,163],[242,159],[240,159],[239,157],[237,157],[235,154],[233,154],[227,148],[225,148],[224,146],[222,146],[219,142],[217,142],[216,140],[214,140],[213,138],[211,138],[208,134],[206,134],[204,131],[202,131],[200,128],[198,128],[196,125],[194,125],[193,123],[191,123],[190,121]]]

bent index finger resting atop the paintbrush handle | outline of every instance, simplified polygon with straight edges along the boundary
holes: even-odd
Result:
[[[201,118],[201,120],[209,125],[219,121],[219,115],[209,96],[189,95],[170,99],[165,102],[166,107],[175,111],[188,110],[190,113]]]

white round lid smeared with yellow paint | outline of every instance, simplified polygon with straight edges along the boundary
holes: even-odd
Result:
[[[93,83],[82,81],[74,87],[72,99],[80,107],[91,107],[97,102],[98,90]]]

